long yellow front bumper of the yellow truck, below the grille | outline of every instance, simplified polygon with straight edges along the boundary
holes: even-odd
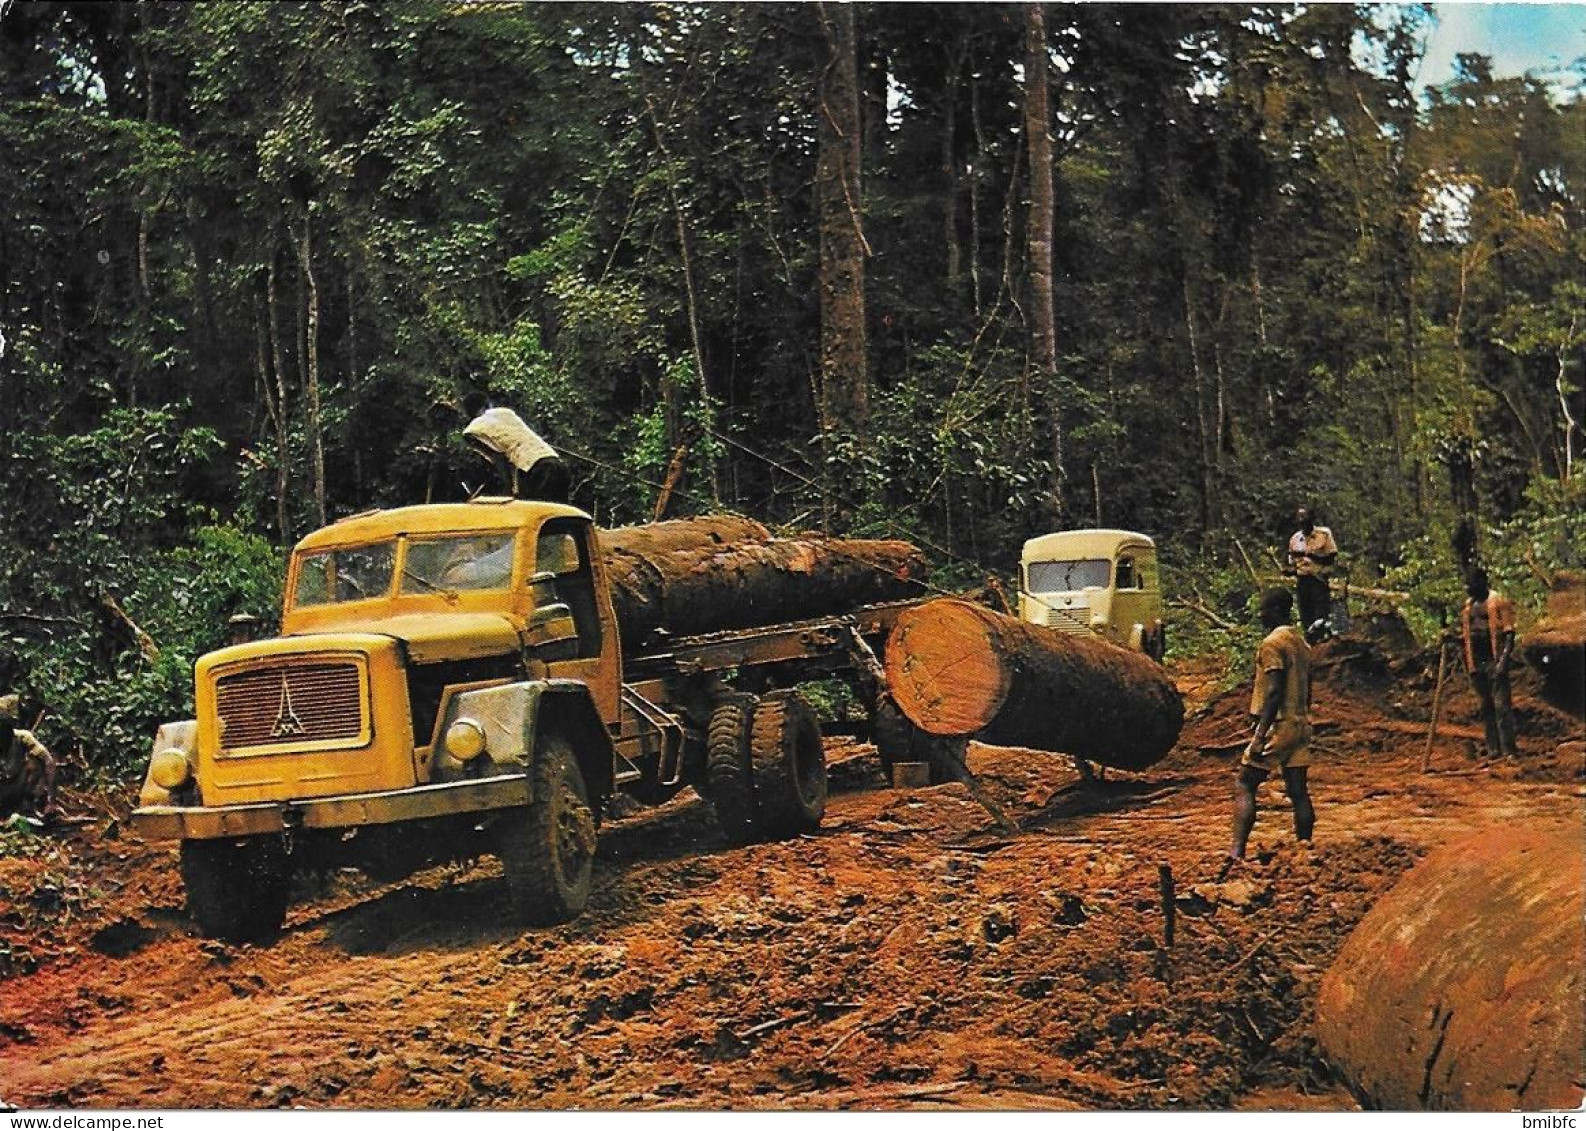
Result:
[[[430,817],[455,817],[525,806],[531,796],[528,774],[501,774],[465,782],[439,782],[382,793],[347,793],[303,801],[263,801],[244,806],[143,806],[132,811],[132,826],[146,841],[213,841],[298,828],[357,828]]]

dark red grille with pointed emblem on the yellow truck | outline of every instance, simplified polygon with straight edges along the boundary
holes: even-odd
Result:
[[[216,681],[220,747],[336,742],[365,733],[363,681],[352,663],[254,668]]]

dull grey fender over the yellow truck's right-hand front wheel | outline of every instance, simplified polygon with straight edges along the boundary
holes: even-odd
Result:
[[[503,771],[527,773],[536,736],[557,730],[577,750],[590,798],[611,795],[615,750],[587,684],[576,679],[530,679],[454,695],[441,720],[442,739],[435,753],[436,782],[466,776],[463,763],[444,749],[444,734],[458,719],[471,719],[484,728],[485,757]]]

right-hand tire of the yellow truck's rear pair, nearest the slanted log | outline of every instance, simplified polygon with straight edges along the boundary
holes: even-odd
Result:
[[[820,826],[826,812],[826,749],[820,723],[796,692],[771,692],[750,725],[755,807],[769,839]]]

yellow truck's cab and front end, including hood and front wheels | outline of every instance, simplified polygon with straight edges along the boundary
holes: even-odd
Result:
[[[200,926],[232,939],[279,928],[292,871],[479,852],[522,917],[568,918],[606,799],[671,723],[626,707],[590,517],[514,498],[308,535],[281,635],[193,674],[197,717],[160,728],[133,825],[181,841]]]

